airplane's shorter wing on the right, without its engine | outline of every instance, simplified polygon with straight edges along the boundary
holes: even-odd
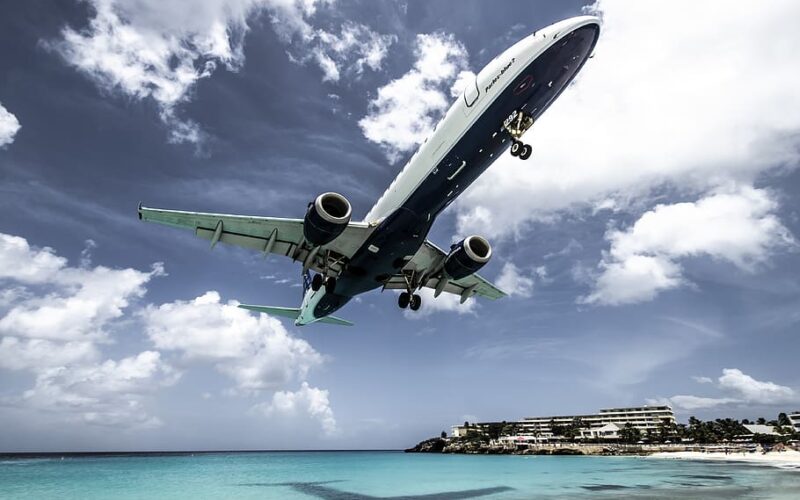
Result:
[[[423,243],[414,257],[403,267],[403,272],[392,276],[386,282],[385,288],[405,290],[407,276],[412,273],[418,273],[425,281],[424,286],[436,290],[436,295],[440,292],[461,295],[462,303],[473,295],[480,295],[491,300],[501,299],[508,295],[479,274],[471,274],[459,280],[442,276],[441,267],[446,257],[447,253],[430,241],[425,240],[425,243]]]

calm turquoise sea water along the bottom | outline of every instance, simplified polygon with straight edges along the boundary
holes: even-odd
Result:
[[[800,498],[800,471],[639,457],[264,452],[0,460],[0,498]]]

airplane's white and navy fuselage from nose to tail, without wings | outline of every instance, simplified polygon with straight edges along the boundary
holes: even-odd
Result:
[[[504,122],[520,112],[538,119],[588,60],[599,31],[597,17],[566,19],[486,65],[365,217],[375,229],[338,278],[335,293],[309,288],[295,324],[330,315],[402,268],[436,216],[511,146]]]

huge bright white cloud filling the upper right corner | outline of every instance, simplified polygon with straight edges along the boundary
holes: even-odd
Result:
[[[596,6],[595,57],[526,135],[531,159],[503,155],[458,199],[459,233],[514,235],[620,193],[702,193],[798,165],[799,3]]]

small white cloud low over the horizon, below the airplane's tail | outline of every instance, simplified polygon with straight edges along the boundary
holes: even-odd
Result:
[[[268,417],[277,415],[291,418],[298,413],[306,413],[319,422],[326,436],[338,434],[336,418],[328,400],[328,391],[310,387],[306,382],[303,382],[300,389],[295,392],[276,392],[272,396],[272,402],[259,403],[252,410]]]

